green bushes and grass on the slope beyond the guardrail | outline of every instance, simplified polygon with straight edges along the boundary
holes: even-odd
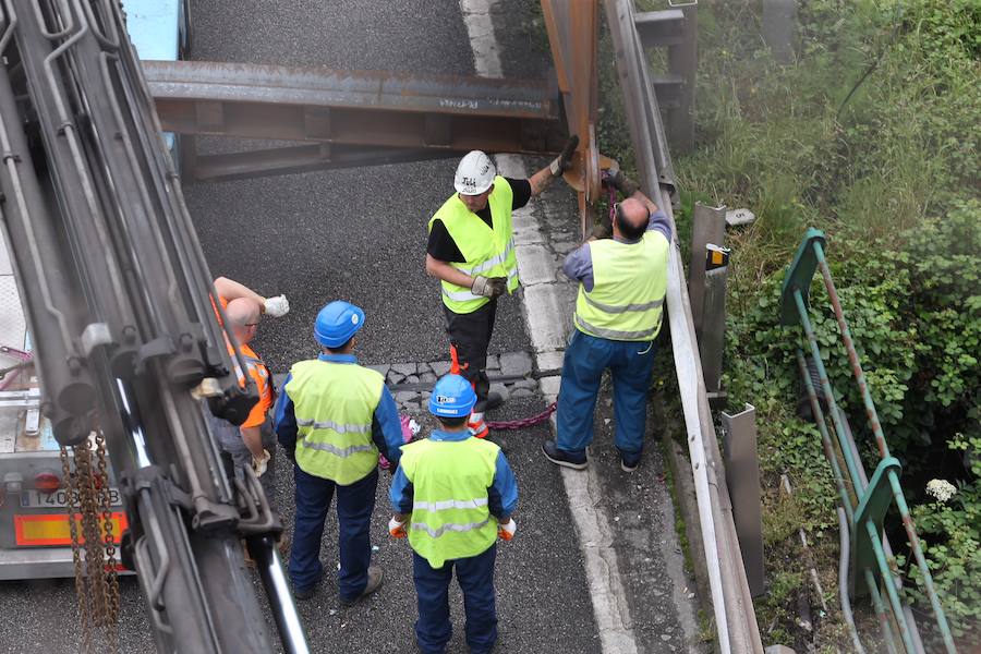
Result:
[[[726,386],[758,409],[766,491],[767,643],[800,645],[788,610],[806,585],[790,537],[802,525],[836,604],[836,493],[816,428],[796,415],[799,329],[778,325],[783,270],[807,227],[828,234],[845,314],[886,439],[944,598],[964,642],[981,639],[981,3],[977,0],[801,2],[797,59],[773,61],[755,3],[702,2],[694,154],[676,157],[679,229],[695,201],[746,206],[730,234]],[[619,109],[605,93],[601,135]],[[620,130],[622,132],[622,130]],[[620,138],[623,138],[622,134]],[[626,148],[625,148],[626,152]],[[683,241],[682,241],[683,242]],[[867,461],[877,452],[823,286],[812,316],[832,383]],[[871,465],[867,463],[867,469]],[[795,487],[779,499],[780,474]],[[957,492],[927,496],[931,479]],[[772,489],[772,491],[771,491]],[[899,538],[894,538],[896,544]],[[915,566],[897,565],[916,579]],[[776,590],[779,592],[777,593]],[[910,592],[924,607],[912,584]],[[812,605],[816,605],[816,598]],[[929,625],[929,609],[920,625]],[[808,640],[841,643],[819,621]]]

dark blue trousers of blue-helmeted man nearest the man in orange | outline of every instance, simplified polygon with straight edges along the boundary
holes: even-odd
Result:
[[[320,538],[330,500],[337,489],[337,520],[340,534],[340,571],[337,585],[341,600],[354,600],[367,584],[372,560],[370,530],[375,510],[378,469],[349,486],[341,486],[293,467],[296,482],[296,519],[293,523],[293,549],[290,555],[290,581],[298,591],[316,585],[324,574]]]

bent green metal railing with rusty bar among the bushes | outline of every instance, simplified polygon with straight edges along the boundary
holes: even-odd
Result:
[[[804,353],[798,348],[797,363],[808,391],[814,420],[821,433],[825,456],[835,476],[838,499],[848,519],[851,543],[851,586],[853,592],[860,592],[862,586],[860,582],[864,581],[864,588],[871,596],[872,605],[879,618],[884,643],[889,652],[913,654],[921,651],[917,646],[919,639],[913,633],[916,627],[911,623],[911,618],[904,611],[904,605],[899,597],[899,589],[901,588],[899,578],[889,567],[888,557],[883,547],[883,521],[886,511],[895,504],[903,520],[910,553],[916,558],[917,566],[920,569],[922,585],[933,607],[933,614],[936,618],[937,629],[943,638],[945,650],[953,654],[957,651],[954,646],[954,638],[933,586],[933,578],[930,574],[930,569],[927,567],[927,560],[920,547],[920,540],[917,536],[909,507],[906,504],[903,487],[899,484],[901,468],[899,461],[889,455],[889,448],[882,432],[875,404],[872,402],[872,396],[869,392],[865,375],[859,363],[848,323],[845,320],[845,314],[841,312],[841,303],[838,300],[838,293],[832,280],[831,269],[824,258],[824,245],[825,238],[823,232],[816,229],[809,229],[807,234],[804,234],[804,239],[800,247],[798,247],[794,262],[790,264],[787,276],[784,279],[780,292],[780,323],[788,326],[800,325],[803,328],[810,346],[811,361],[818,372],[821,385],[820,390],[828,413],[831,413],[834,432],[837,436],[838,449],[836,451],[828,432],[824,411],[818,398],[818,390],[811,380]],[[848,360],[851,363],[855,379],[858,383],[862,401],[865,405],[869,426],[879,446],[880,461],[875,472],[872,474],[872,479],[868,483],[865,483],[864,470],[862,470],[861,460],[857,456],[850,429],[845,424],[845,415],[839,411],[835,402],[834,390],[822,361],[818,337],[814,334],[814,328],[808,314],[811,281],[819,269],[838,322],[841,341],[848,352]],[[845,462],[847,479],[845,473],[843,473],[839,456]],[[849,486],[851,493],[849,493]],[[883,591],[885,592],[885,598],[883,598]],[[853,626],[851,628],[853,629]],[[852,639],[860,649],[858,634],[853,632]],[[900,643],[901,649],[899,649]]]

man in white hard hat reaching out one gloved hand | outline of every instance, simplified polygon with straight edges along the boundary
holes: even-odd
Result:
[[[457,166],[457,192],[429,219],[426,272],[443,287],[452,370],[476,392],[470,428],[480,438],[487,435],[484,412],[501,401],[489,392],[486,373],[497,298],[519,286],[511,211],[561,177],[578,145],[573,135],[558,157],[523,180],[498,175],[491,157],[473,150]]]

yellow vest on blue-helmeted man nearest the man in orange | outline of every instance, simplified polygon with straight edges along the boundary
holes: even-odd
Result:
[[[352,363],[301,361],[286,389],[296,416],[296,465],[341,486],[378,464],[372,420],[385,378]]]

